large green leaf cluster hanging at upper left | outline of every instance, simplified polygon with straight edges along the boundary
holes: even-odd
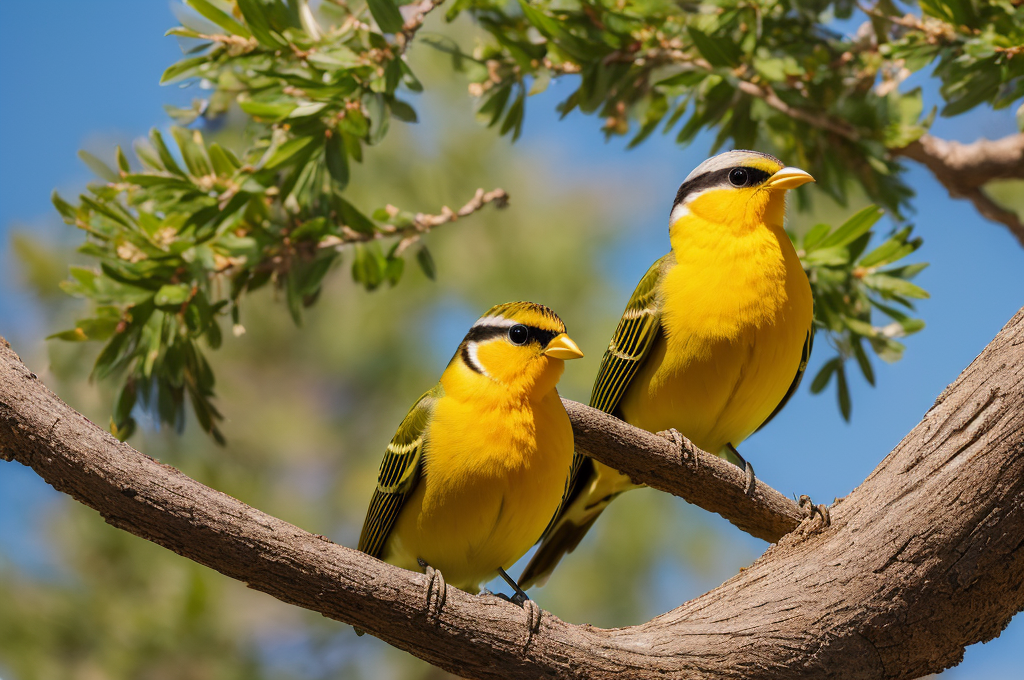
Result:
[[[65,221],[86,233],[80,252],[97,263],[73,268],[65,284],[96,303],[93,315],[55,337],[105,343],[93,373],[124,376],[111,423],[122,438],[135,428],[136,405],[180,427],[187,396],[203,429],[221,440],[200,340],[216,349],[227,314],[244,331],[244,294],[276,286],[299,323],[343,253],[368,290],[394,285],[403,253],[430,227],[391,206],[367,216],[344,196],[353,164],[391,119],[416,120],[396,96],[422,89],[403,58],[409,36],[382,33],[402,30],[391,0],[356,11],[324,3],[323,24],[300,0],[185,4],[183,26],[169,33],[188,54],[163,82],[198,81],[211,92],[172,115],[183,125],[210,122],[237,104],[251,118],[248,145],[237,154],[185,127],[172,127],[168,143],[154,130],[135,144],[141,167],[120,147],[116,167],[83,152],[103,181],[77,205],[53,197]],[[433,277],[425,247],[416,259]]]

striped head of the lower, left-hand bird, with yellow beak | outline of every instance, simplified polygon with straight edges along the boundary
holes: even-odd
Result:
[[[565,324],[551,309],[534,302],[506,302],[473,324],[455,360],[476,374],[528,391],[554,388],[563,362],[581,356]]]

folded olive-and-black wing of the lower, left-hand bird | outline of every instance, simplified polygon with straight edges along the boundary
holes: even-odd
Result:
[[[433,414],[434,403],[444,395],[440,384],[421,396],[406,415],[398,431],[384,452],[377,488],[370,500],[367,518],[359,535],[359,550],[381,557],[388,535],[394,527],[406,503],[406,499],[416,488],[423,465],[423,450],[427,426]]]

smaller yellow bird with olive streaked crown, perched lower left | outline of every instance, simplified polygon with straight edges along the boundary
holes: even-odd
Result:
[[[555,385],[581,356],[551,309],[488,309],[388,444],[359,550],[471,593],[499,573],[515,587],[505,568],[566,488],[572,428]]]

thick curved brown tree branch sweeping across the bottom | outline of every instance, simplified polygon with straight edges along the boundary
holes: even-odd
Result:
[[[470,678],[915,678],[1024,608],[1024,310],[830,526],[802,524],[721,587],[624,629],[446,588],[208,488],[70,409],[5,343],[0,457],[115,526]]]

